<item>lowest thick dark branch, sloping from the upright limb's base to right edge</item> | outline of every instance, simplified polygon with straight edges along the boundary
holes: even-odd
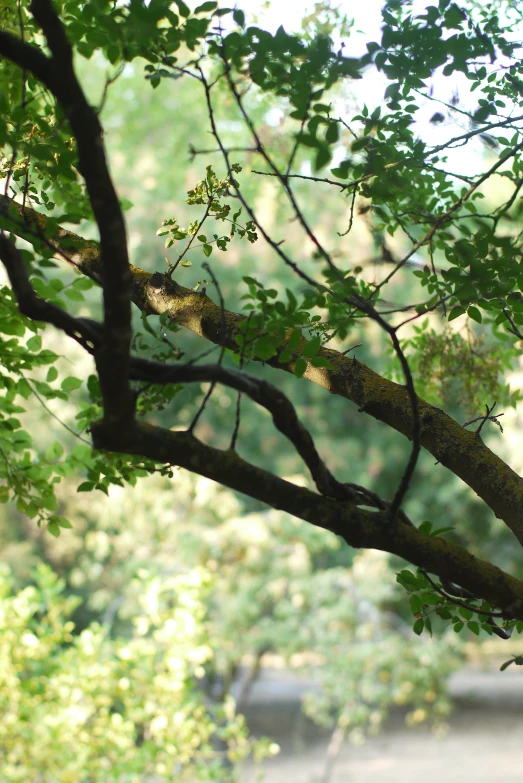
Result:
[[[523,620],[523,581],[475,558],[461,546],[427,536],[401,522],[391,523],[387,511],[370,511],[317,495],[251,465],[233,451],[207,446],[189,432],[172,432],[139,422],[125,432],[117,432],[100,422],[93,426],[92,436],[96,448],[179,465],[330,530],[351,547],[391,552],[499,606],[507,617]]]

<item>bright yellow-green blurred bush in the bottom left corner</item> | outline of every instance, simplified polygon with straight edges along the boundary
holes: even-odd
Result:
[[[136,580],[133,634],[112,639],[98,624],[74,634],[75,599],[49,568],[19,593],[2,572],[4,780],[231,780],[227,758],[270,752],[246,739],[230,700],[210,708],[198,688],[212,658],[203,623],[209,574]]]

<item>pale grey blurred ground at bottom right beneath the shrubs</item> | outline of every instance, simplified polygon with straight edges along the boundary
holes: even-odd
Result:
[[[264,764],[264,777],[246,767],[242,783],[322,780],[329,736],[300,716],[304,687],[281,670],[265,671],[254,686],[249,725],[272,736],[281,752]],[[523,668],[468,666],[452,677],[450,690],[455,709],[446,736],[407,728],[397,713],[379,737],[343,746],[330,783],[523,783]]]

